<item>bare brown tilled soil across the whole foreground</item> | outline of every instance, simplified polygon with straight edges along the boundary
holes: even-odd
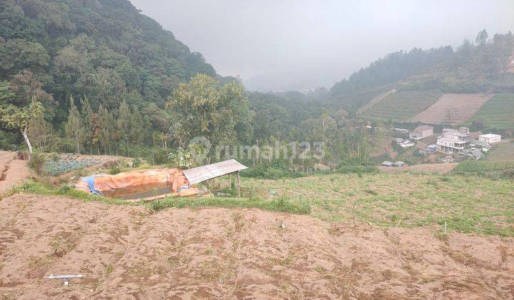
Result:
[[[0,298],[513,299],[514,239],[433,232],[17,194],[0,201]]]

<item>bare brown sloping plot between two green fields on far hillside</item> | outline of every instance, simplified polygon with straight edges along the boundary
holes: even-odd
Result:
[[[410,121],[428,124],[460,124],[470,119],[492,94],[444,94],[425,111],[413,116]]]

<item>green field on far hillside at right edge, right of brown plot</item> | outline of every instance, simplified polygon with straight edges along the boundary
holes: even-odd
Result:
[[[466,123],[478,121],[488,128],[514,129],[514,94],[498,94],[474,114]]]

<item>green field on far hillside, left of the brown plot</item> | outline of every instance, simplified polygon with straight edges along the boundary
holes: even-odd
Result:
[[[428,109],[443,95],[441,91],[398,91],[368,109],[361,116],[382,121],[407,121]]]

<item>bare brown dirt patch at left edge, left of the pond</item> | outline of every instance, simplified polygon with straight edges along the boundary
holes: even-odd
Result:
[[[0,151],[0,194],[29,176],[27,161],[16,159],[15,152]]]

